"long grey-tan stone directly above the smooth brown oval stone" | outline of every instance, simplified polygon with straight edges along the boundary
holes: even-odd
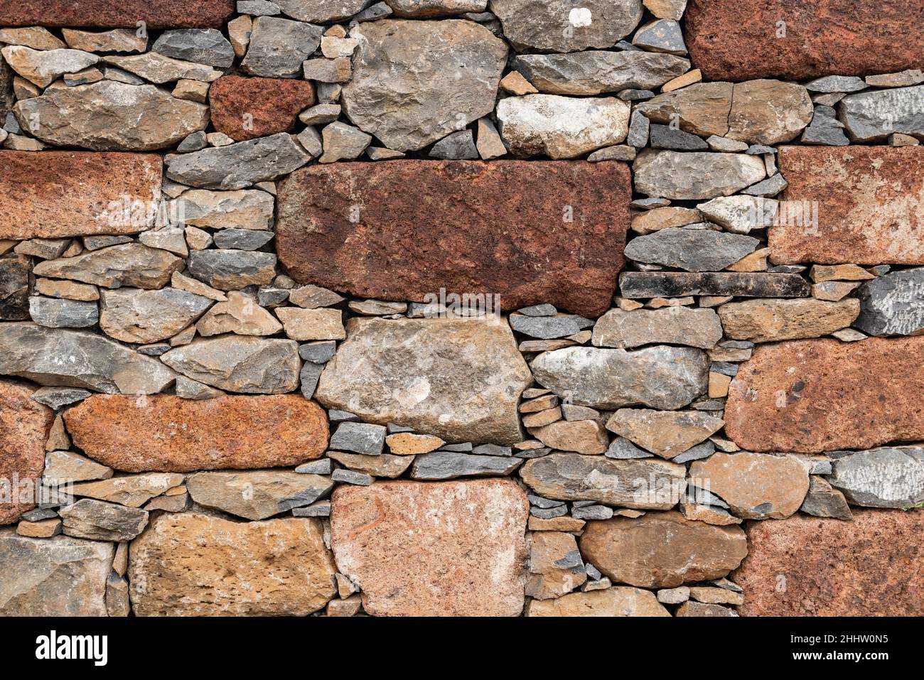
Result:
[[[528,460],[519,474],[545,498],[638,509],[668,510],[687,489],[687,468],[657,459],[551,454]]]

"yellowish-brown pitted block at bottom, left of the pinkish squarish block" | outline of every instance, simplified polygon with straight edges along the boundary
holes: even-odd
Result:
[[[164,513],[132,541],[128,560],[139,616],[305,616],[336,592],[319,519]]]

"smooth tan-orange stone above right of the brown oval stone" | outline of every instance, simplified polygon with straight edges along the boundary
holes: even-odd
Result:
[[[808,493],[808,470],[794,456],[720,452],[695,461],[689,476],[745,519],[784,519]]]

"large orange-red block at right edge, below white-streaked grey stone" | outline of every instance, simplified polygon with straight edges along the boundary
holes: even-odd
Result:
[[[725,432],[804,454],[924,439],[924,337],[758,346],[732,381]]]

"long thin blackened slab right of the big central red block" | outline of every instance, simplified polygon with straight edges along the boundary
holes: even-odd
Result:
[[[623,297],[807,297],[811,292],[796,273],[626,272],[619,289]]]

